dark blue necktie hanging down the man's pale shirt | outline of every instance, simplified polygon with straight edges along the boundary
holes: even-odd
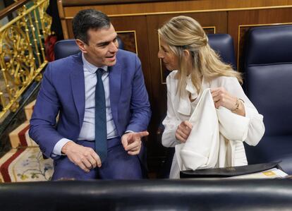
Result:
[[[107,116],[102,83],[102,68],[97,69],[97,85],[95,87],[95,152],[102,162],[107,158]]]

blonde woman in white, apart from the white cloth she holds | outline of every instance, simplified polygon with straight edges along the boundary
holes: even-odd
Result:
[[[224,64],[209,47],[208,38],[196,20],[186,16],[171,18],[158,30],[159,59],[172,71],[166,78],[167,115],[162,144],[175,147],[188,140],[193,125],[188,121],[200,100],[202,92],[210,89],[214,107],[225,107],[233,114],[248,119],[245,140],[226,140],[220,145],[218,158],[206,167],[241,166],[248,164],[243,141],[257,145],[264,134],[263,117],[241,88],[241,73]],[[196,141],[196,140],[193,140]],[[233,147],[229,147],[231,143]],[[212,148],[207,146],[207,149]],[[199,167],[200,168],[200,167]],[[179,178],[174,156],[170,178]]]

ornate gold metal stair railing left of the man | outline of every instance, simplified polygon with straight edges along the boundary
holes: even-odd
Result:
[[[0,28],[0,119],[16,111],[28,86],[39,80],[47,61],[44,40],[50,34],[49,0],[32,0],[18,8],[17,17]]]

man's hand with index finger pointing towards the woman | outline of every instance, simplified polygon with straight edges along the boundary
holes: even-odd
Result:
[[[128,151],[129,155],[138,155],[141,150],[141,138],[147,135],[149,135],[147,131],[123,134],[121,138],[123,148]]]

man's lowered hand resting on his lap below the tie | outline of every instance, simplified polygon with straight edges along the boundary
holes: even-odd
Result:
[[[63,145],[61,152],[67,155],[71,162],[85,172],[89,172],[90,169],[94,169],[95,167],[102,167],[99,156],[95,150],[90,147],[83,147],[83,145],[78,145],[73,141],[69,141]]]

